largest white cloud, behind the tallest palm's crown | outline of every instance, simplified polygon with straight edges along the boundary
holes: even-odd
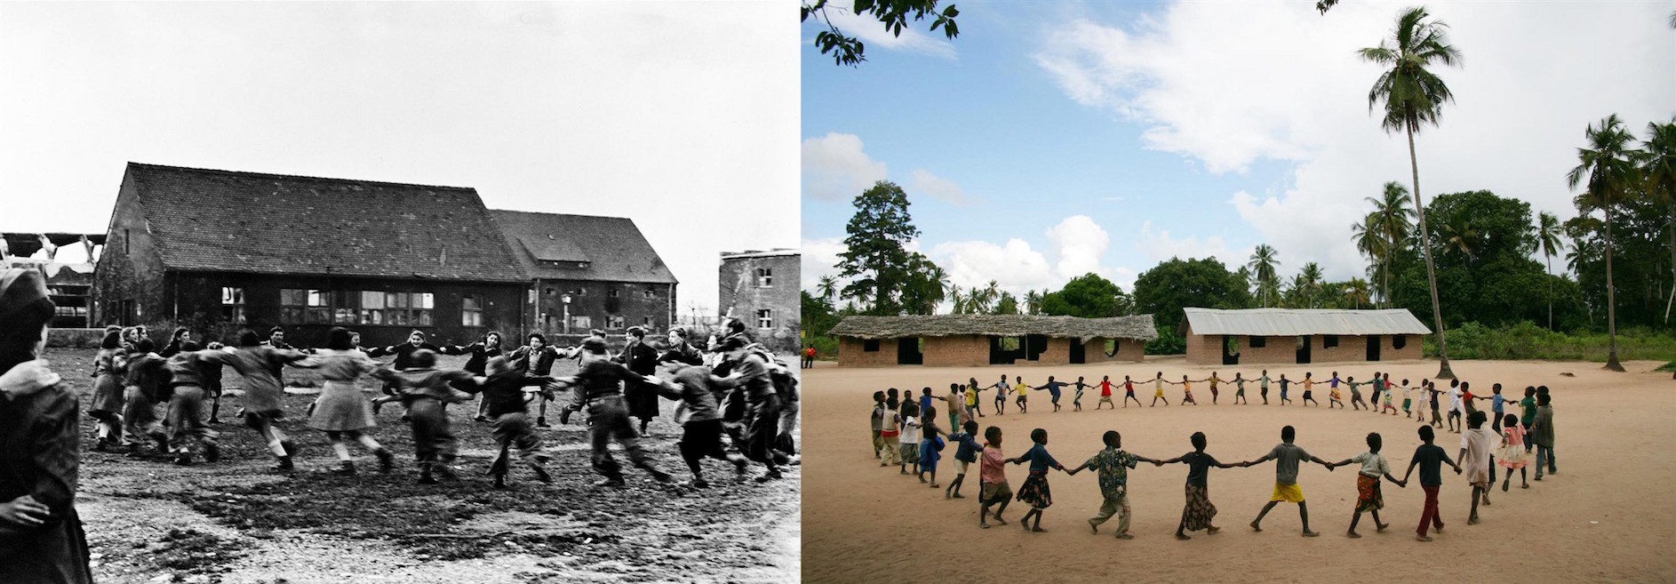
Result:
[[[1044,29],[1036,54],[1084,106],[1143,124],[1146,148],[1178,153],[1212,173],[1259,161],[1291,166],[1277,193],[1229,201],[1287,265],[1321,262],[1331,279],[1363,272],[1349,223],[1386,181],[1410,186],[1408,141],[1368,111],[1379,67],[1354,49],[1389,34],[1399,3],[1353,2],[1319,15],[1309,3],[1180,2],[1131,29],[1088,20]],[[1440,67],[1456,102],[1416,136],[1421,193],[1492,190],[1532,211],[1572,216],[1562,180],[1584,128],[1617,112],[1637,136],[1669,119],[1676,94],[1668,7],[1616,3],[1446,3],[1463,67]],[[1532,44],[1529,39],[1549,39]],[[1146,253],[1217,255],[1222,237],[1158,230]],[[1239,253],[1232,253],[1239,255]]]

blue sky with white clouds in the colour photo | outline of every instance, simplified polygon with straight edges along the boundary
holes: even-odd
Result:
[[[1410,185],[1408,143],[1368,112],[1356,49],[1411,2],[960,3],[960,37],[861,34],[835,67],[803,27],[804,287],[833,274],[850,200],[903,186],[915,247],[954,284],[1131,289],[1170,257],[1363,275],[1351,223]],[[1420,186],[1492,190],[1574,216],[1565,173],[1591,123],[1637,138],[1676,114],[1676,2],[1430,2],[1461,67],[1441,126],[1416,136]]]

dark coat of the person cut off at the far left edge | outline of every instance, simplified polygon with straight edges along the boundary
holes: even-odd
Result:
[[[0,582],[92,582],[75,515],[79,404],[64,386],[0,398],[0,500],[34,497],[52,510],[40,527],[0,522]]]

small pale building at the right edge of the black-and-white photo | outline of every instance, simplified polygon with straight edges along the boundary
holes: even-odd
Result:
[[[803,329],[798,285],[803,255],[798,250],[722,253],[717,274],[717,310],[739,319],[746,331],[776,351],[796,351]]]

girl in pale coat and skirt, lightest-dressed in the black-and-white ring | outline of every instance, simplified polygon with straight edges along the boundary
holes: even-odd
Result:
[[[327,440],[332,441],[339,460],[339,468],[334,473],[355,473],[355,461],[349,458],[345,438],[359,441],[374,456],[379,456],[379,472],[391,472],[396,458],[367,435],[367,430],[377,426],[377,421],[372,418],[372,403],[360,394],[355,379],[367,373],[380,378],[392,376],[392,373],[365,352],[357,351],[352,334],[344,327],[332,327],[327,332],[325,351],[320,351],[315,359],[325,386],[320,389],[320,399],[315,399],[308,428],[325,431]]]

